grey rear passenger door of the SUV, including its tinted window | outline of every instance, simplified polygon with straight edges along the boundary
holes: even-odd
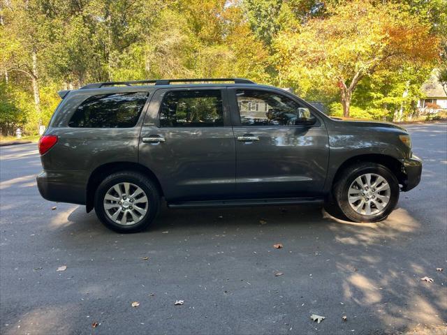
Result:
[[[224,87],[158,89],[140,134],[139,161],[166,200],[214,200],[235,191],[235,142]]]

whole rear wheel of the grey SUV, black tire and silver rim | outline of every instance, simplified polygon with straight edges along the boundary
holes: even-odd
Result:
[[[139,232],[154,220],[160,195],[144,174],[123,171],[110,174],[96,189],[94,206],[101,222],[116,232]]]

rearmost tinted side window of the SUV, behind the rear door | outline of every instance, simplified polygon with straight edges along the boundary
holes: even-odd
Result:
[[[68,126],[75,128],[131,128],[140,117],[147,92],[101,94],[87,98]]]

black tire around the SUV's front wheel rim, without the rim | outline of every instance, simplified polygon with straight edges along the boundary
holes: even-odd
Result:
[[[358,213],[355,209],[351,207],[348,200],[349,187],[358,177],[363,174],[378,174],[380,177],[386,179],[388,185],[390,186],[390,199],[386,207],[381,209],[376,214],[365,215]],[[335,202],[339,207],[340,211],[354,222],[378,222],[386,219],[388,215],[395,208],[397,201],[399,200],[399,181],[393,172],[391,172],[386,166],[377,163],[356,163],[348,168],[346,168],[342,174],[339,176],[338,180],[335,181],[334,187],[332,189]],[[355,204],[356,205],[356,204]]]

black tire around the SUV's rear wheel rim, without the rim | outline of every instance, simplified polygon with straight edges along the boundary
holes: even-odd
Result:
[[[141,188],[147,196],[147,212],[137,223],[133,223],[131,225],[120,225],[115,223],[115,221],[109,218],[109,216],[105,213],[105,195],[112,186],[119,183],[134,184]],[[105,227],[114,230],[115,232],[122,233],[140,232],[145,230],[152,223],[152,221],[154,221],[156,214],[159,213],[160,203],[160,194],[154,182],[144,174],[133,171],[122,171],[110,174],[110,176],[106,177],[101,184],[99,184],[98,188],[96,188],[94,198],[96,216],[98,216],[99,220],[101,220]]]

